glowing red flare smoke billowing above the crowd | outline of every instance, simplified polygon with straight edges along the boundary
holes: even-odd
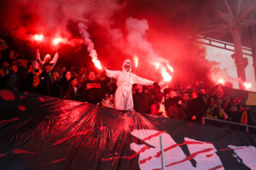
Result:
[[[9,0],[0,5],[1,16],[9,17],[9,20],[2,18],[3,32],[10,33],[16,43],[26,41],[31,51],[37,45],[30,42],[32,35],[44,34],[42,53],[55,49],[52,41],[61,37],[64,41],[58,44],[60,62],[76,67],[91,62],[91,50],[87,52],[90,42],[84,41],[79,31],[79,23],[83,21],[94,44],[91,49],[95,49],[96,57],[92,58],[108,69],[121,69],[125,58],[132,59],[137,54],[137,74],[141,77],[159,81],[155,75],[161,74],[161,70],[156,71],[155,63],[160,63],[160,67],[172,66],[173,83],[211,83],[212,65],[205,59],[205,49],[188,39],[193,27],[183,3]]]

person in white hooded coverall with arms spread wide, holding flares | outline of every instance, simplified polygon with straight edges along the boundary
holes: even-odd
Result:
[[[153,85],[154,82],[137,77],[131,73],[131,60],[125,59],[123,71],[106,70],[106,75],[116,79],[117,89],[114,94],[114,108],[122,111],[133,111],[133,100],[131,87],[133,84],[143,86]]]

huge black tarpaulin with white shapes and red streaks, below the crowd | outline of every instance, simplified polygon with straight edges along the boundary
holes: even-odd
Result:
[[[0,169],[255,169],[256,136],[0,91]]]

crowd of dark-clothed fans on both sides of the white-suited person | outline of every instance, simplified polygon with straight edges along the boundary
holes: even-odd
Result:
[[[31,60],[15,50],[7,55],[1,53],[0,88],[114,107],[113,79],[86,68],[67,69],[66,65],[56,65],[58,52],[54,59],[45,58],[42,61],[38,51],[37,57]],[[239,101],[224,94],[221,84],[206,88],[202,82],[195,82],[165,89],[157,84],[150,87],[135,84],[132,92],[135,111],[179,120],[201,121],[202,116],[207,116],[240,122],[244,111]]]

